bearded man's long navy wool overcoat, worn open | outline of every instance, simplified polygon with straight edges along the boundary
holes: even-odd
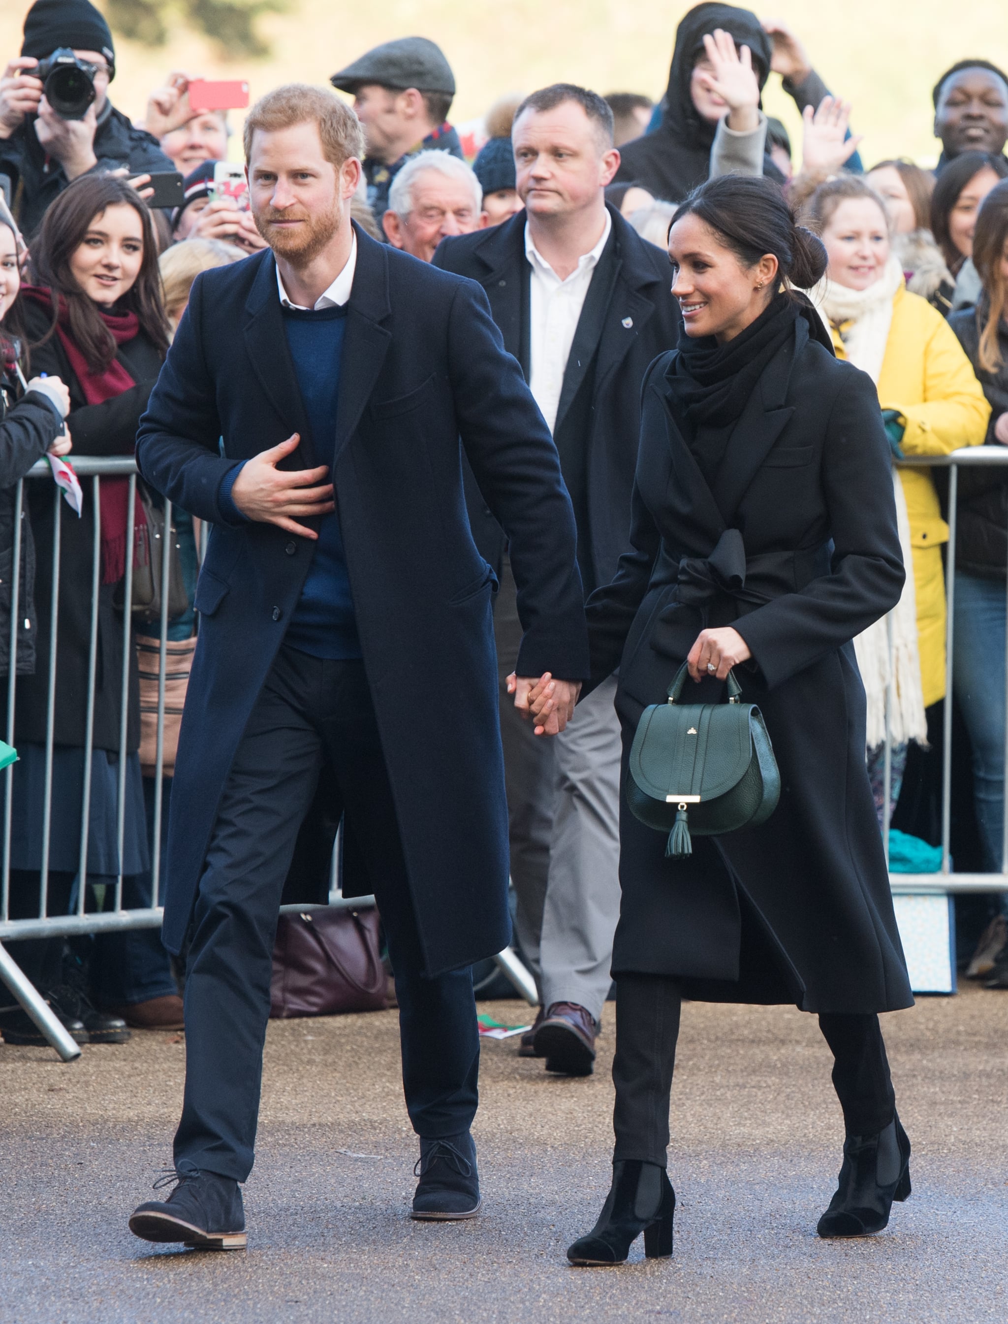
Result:
[[[356,233],[328,434],[312,436],[300,400],[269,250],[197,277],[140,424],[144,478],[213,526],[175,764],[164,941],[179,951],[184,940],[221,789],[312,555],[271,524],[228,526],[220,486],[235,461],[299,432],[291,466],[332,466],[417,924],[437,973],[499,952],[511,935],[495,576],[470,532],[463,450],[511,539],[519,670],[586,677],[585,609],[557,451],[483,291]],[[347,867],[343,887],[372,890]]]

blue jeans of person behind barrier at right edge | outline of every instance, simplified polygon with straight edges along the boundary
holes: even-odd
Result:
[[[984,869],[1001,871],[1004,833],[1005,584],[956,572],[952,688],[970,732]]]

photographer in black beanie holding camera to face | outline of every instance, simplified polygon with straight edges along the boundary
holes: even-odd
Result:
[[[157,139],[108,101],[114,77],[112,34],[89,0],[36,0],[21,57],[0,78],[0,173],[11,177],[12,209],[29,240],[79,175],[173,169]]]

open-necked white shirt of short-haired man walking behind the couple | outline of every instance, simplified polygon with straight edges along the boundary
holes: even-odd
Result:
[[[532,267],[529,281],[529,388],[549,430],[557,421],[564,373],[578,328],[578,318],[585,306],[591,275],[602,257],[602,249],[612,229],[612,217],[606,208],[606,225],[598,244],[578,258],[577,267],[566,281],[561,281],[549,262],[532,242],[525,222],[525,257]]]

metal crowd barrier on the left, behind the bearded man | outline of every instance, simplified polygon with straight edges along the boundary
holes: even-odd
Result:
[[[136,508],[136,463],[131,457],[98,458],[98,457],[71,457],[74,471],[81,481],[83,499],[94,506],[94,539],[93,539],[93,571],[91,571],[91,614],[87,654],[87,708],[85,715],[85,747],[83,747],[83,792],[81,804],[81,845],[78,853],[78,873],[75,879],[77,904],[73,914],[48,914],[48,886],[49,886],[49,859],[50,838],[53,822],[53,753],[56,747],[56,673],[57,647],[60,630],[60,573],[61,573],[61,515],[67,518],[60,508],[63,495],[53,482],[52,469],[48,461],[40,461],[19,482],[15,493],[15,540],[12,549],[11,571],[11,651],[9,671],[7,675],[7,731],[4,739],[9,745],[17,744],[17,731],[15,727],[15,700],[17,696],[17,625],[20,620],[19,597],[21,593],[21,512],[25,500],[25,482],[49,482],[53,489],[53,542],[52,542],[52,604],[49,613],[49,653],[48,658],[36,658],[36,674],[46,667],[48,677],[48,707],[46,707],[46,735],[45,735],[45,793],[42,802],[42,859],[38,884],[38,914],[30,919],[11,919],[11,831],[13,812],[13,779],[17,776],[17,764],[12,764],[4,772],[4,820],[3,820],[3,847],[0,873],[0,980],[11,989],[21,1006],[28,1012],[34,1023],[56,1049],[60,1057],[69,1062],[81,1055],[81,1049],[66,1033],[49,1004],[32,985],[7,951],[5,944],[24,939],[42,937],[69,937],[81,933],[108,933],[123,932],[138,928],[159,928],[164,915],[161,906],[161,839],[164,834],[163,813],[163,767],[164,767],[164,714],[165,714],[165,670],[167,670],[167,641],[168,641],[168,589],[169,589],[169,556],[161,557],[161,616],[160,616],[160,665],[157,683],[157,744],[153,777],[153,833],[151,842],[151,892],[152,906],[147,908],[123,907],[123,846],[126,837],[126,776],[127,776],[127,722],[130,716],[130,665],[131,650],[136,646],[132,628],[127,628],[123,638],[122,657],[122,688],[119,698],[119,763],[118,763],[118,817],[116,817],[116,845],[119,874],[115,880],[112,904],[108,910],[89,911],[87,903],[87,845],[89,845],[89,816],[91,797],[91,753],[94,748],[94,710],[95,685],[98,675],[98,606],[101,591],[101,482],[102,478],[128,478],[128,502],[126,527],[134,527]],[[165,536],[172,528],[172,503],[165,502],[164,510]],[[197,547],[198,559],[202,560],[205,549],[206,526],[202,526],[202,545]],[[165,549],[167,551],[167,549]],[[126,559],[126,580],[123,584],[123,601],[132,598],[134,559]],[[127,621],[127,625],[130,622]],[[1,683],[1,682],[0,682]],[[57,806],[58,809],[58,806]],[[339,879],[336,870],[337,853],[333,851],[331,874],[329,908],[366,910],[374,906],[373,896],[343,898],[339,892]],[[108,898],[105,898],[106,903]],[[306,910],[324,908],[320,906],[282,906],[280,910],[300,914]],[[516,990],[530,1005],[538,1001],[536,985],[532,976],[521,964],[515,952],[507,949],[496,957],[499,968],[507,974]]]

